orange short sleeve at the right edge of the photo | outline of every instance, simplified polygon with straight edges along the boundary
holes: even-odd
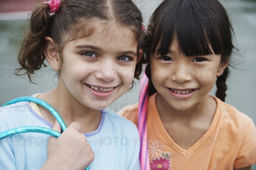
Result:
[[[250,119],[233,168],[238,169],[252,164],[256,164],[256,127]]]

